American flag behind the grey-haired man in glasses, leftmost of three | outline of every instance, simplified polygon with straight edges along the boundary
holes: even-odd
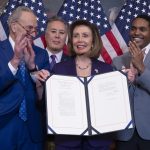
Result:
[[[44,47],[42,38],[40,37],[46,28],[47,14],[44,10],[44,5],[42,0],[9,0],[2,15],[0,16],[0,40],[5,40],[8,36],[8,17],[12,14],[12,11],[18,6],[29,7],[37,16],[38,21],[38,31],[37,39],[34,43],[40,47]]]

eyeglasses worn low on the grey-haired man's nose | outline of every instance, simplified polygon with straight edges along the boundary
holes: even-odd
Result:
[[[27,32],[27,35],[31,36],[32,38],[35,38],[32,33],[35,33],[35,35],[38,34],[37,32],[37,27],[33,27],[33,26],[27,26],[27,27],[24,27],[21,23],[19,23],[17,21],[17,23]]]

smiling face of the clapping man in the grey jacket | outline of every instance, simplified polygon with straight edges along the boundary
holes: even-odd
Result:
[[[147,20],[136,18],[132,22],[130,37],[136,41],[137,45],[143,49],[150,43],[150,24]]]

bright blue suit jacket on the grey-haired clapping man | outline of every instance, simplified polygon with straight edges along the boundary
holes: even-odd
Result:
[[[49,59],[46,51],[36,46],[33,46],[33,49],[35,52],[35,63],[38,68],[49,69]],[[2,130],[1,126],[11,121],[11,117],[15,117],[18,114],[20,103],[23,100],[22,97],[25,96],[28,117],[26,124],[31,139],[38,142],[42,140],[43,132],[41,115],[36,109],[35,83],[28,70],[26,70],[26,85],[24,87],[19,79],[19,69],[15,76],[12,74],[8,67],[8,62],[12,59],[13,53],[8,40],[0,43],[0,119],[3,121],[0,125],[0,130]],[[4,119],[3,115],[7,116],[8,119]],[[9,136],[9,133],[6,133],[6,135]]]

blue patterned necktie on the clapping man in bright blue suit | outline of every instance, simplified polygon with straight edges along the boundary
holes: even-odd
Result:
[[[21,73],[21,81],[23,83],[23,86],[25,86],[25,62],[23,60],[20,62],[20,73]],[[19,117],[23,121],[27,120],[25,96],[23,97],[23,100],[22,100],[20,108],[19,108]]]

